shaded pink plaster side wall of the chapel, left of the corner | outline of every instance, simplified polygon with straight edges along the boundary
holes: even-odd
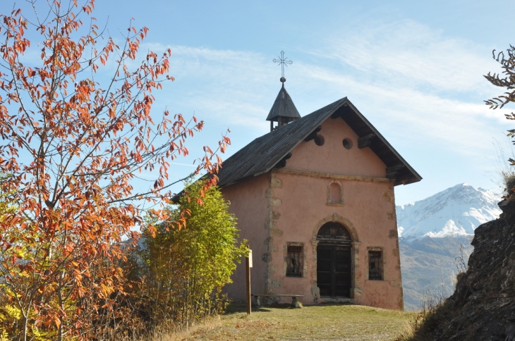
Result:
[[[253,292],[265,291],[263,275],[259,274],[267,271],[267,263],[261,260],[261,255],[267,252],[265,239],[268,237],[268,230],[265,224],[268,220],[268,199],[265,192],[269,184],[270,174],[263,174],[222,188],[224,199],[231,203],[229,211],[238,218],[240,240],[248,240],[253,250],[253,269],[250,276]],[[226,285],[224,291],[237,301],[245,300],[245,259],[238,264],[231,279],[233,283]]]

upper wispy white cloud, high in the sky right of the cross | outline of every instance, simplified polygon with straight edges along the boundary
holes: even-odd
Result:
[[[375,79],[437,91],[485,89],[482,75],[492,65],[490,51],[464,39],[445,37],[412,20],[367,23],[327,40],[320,56],[334,58]]]

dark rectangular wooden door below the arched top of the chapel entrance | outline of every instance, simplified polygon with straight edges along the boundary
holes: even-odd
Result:
[[[320,288],[320,296],[350,297],[350,246],[318,244],[317,286]]]

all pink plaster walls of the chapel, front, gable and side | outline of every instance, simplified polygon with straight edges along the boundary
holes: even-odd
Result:
[[[231,201],[231,212],[238,217],[241,237],[248,239],[253,249],[252,291],[303,294],[303,303],[313,304],[313,264],[316,260],[311,240],[317,225],[336,214],[353,226],[361,243],[355,271],[356,287],[361,293],[354,297],[356,303],[402,309],[392,183],[337,179],[344,193],[344,204],[328,205],[331,178],[280,173],[293,170],[384,178],[384,163],[370,148],[358,149],[358,137],[344,120],[329,118],[322,123],[320,134],[325,139],[323,146],[317,146],[313,140],[301,142],[291,151],[291,159],[279,173],[272,171],[222,189],[224,197]],[[353,143],[351,149],[344,148],[344,138]],[[303,278],[286,277],[288,242],[304,243],[306,271]],[[382,281],[366,279],[368,247],[382,247],[384,250]],[[265,254],[268,256],[263,256]],[[243,266],[238,266],[233,278],[234,285],[228,287],[227,292],[234,299],[244,299]],[[323,299],[317,302],[323,302]]]

